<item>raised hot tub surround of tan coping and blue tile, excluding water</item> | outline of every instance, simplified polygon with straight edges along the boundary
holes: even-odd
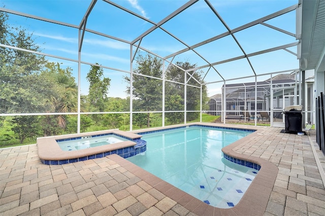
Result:
[[[58,145],[61,141],[88,139],[101,136],[118,136],[126,141],[110,143],[108,145],[94,146],[74,151],[63,151]],[[147,142],[141,139],[141,135],[120,130],[103,130],[79,134],[66,134],[57,136],[46,136],[37,138],[39,158],[42,163],[48,165],[59,165],[73,163],[95,158],[106,157],[117,154],[123,158],[128,158],[146,151]]]

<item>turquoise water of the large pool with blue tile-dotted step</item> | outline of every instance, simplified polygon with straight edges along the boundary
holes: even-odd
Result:
[[[221,149],[250,133],[189,127],[143,134],[147,151],[127,160],[212,206],[230,208],[258,171],[224,159]]]

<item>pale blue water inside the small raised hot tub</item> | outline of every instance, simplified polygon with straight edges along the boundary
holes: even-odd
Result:
[[[103,146],[117,142],[127,141],[123,137],[109,134],[105,136],[88,136],[88,137],[80,137],[79,139],[67,140],[67,141],[59,141],[58,145],[63,151],[74,151],[80,149],[88,149],[96,146]]]

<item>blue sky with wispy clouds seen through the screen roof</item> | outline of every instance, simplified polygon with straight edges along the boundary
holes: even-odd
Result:
[[[0,0],[0,7],[79,26],[90,3],[90,0]],[[104,68],[104,76],[111,79],[108,96],[124,98],[127,95],[125,93],[126,83],[123,77],[129,76],[126,72],[130,71],[130,58],[136,50],[134,46],[131,54],[131,46],[124,42],[134,41],[154,24],[164,20],[178,8],[185,5],[187,1],[112,0],[112,3],[140,15],[143,19],[122,11],[105,1],[98,0],[87,19],[86,28],[119,38],[122,42],[86,31],[82,45],[81,61],[99,63],[108,68],[113,68]],[[227,32],[227,28],[235,29],[293,6],[298,3],[298,0],[210,0],[210,3],[224,23],[217,18],[205,1],[200,0],[161,25],[162,29],[157,28],[146,35],[142,39],[140,46],[160,57],[166,57],[185,49],[187,46],[194,46]],[[151,23],[147,20],[151,20]],[[14,26],[22,26],[32,33],[42,52],[78,60],[77,28],[13,14],[9,14],[8,23]],[[268,20],[266,23],[296,33],[296,12],[286,13]],[[178,40],[170,34],[174,35]],[[194,49],[196,52],[190,50],[176,55],[173,62],[189,61],[192,64],[202,66],[242,56],[244,55],[243,51],[250,54],[298,42],[295,37],[262,24],[246,28],[233,35],[234,37],[228,35],[197,47]],[[235,39],[240,44],[240,47]],[[297,53],[297,47],[252,56],[249,57],[249,60],[257,75],[299,68],[297,56],[288,51]],[[48,57],[48,59],[49,61],[62,63],[63,68],[68,66],[73,68],[73,74],[77,77],[78,64],[76,62],[53,57]],[[167,60],[171,61],[172,58]],[[166,61],[167,65],[168,62]],[[135,63],[133,63],[133,67],[136,67]],[[209,70],[209,67],[202,68],[205,82],[219,82],[207,85],[209,96],[221,93],[223,82],[220,83],[220,81],[222,81],[222,78],[228,80],[254,75],[246,59],[217,64],[214,68],[217,71],[214,69]],[[80,86],[82,94],[87,94],[88,91],[88,82],[85,77],[89,69],[89,65],[81,64]],[[257,79],[263,81],[269,78],[269,76],[262,76]],[[251,80],[244,79],[243,81],[236,80],[230,83],[253,81],[254,78]]]

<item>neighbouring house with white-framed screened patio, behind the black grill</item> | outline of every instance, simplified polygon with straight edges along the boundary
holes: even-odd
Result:
[[[259,111],[267,111],[273,118],[281,119],[281,113],[285,106],[301,104],[301,101],[299,101],[299,76],[297,78],[298,81],[296,81],[295,77],[296,73],[279,74],[273,77],[272,81],[268,79],[257,82],[256,90],[255,82],[223,85],[221,94],[215,94],[210,97],[208,113],[211,115],[221,115],[221,111],[225,108],[225,115],[241,115],[243,110],[249,111],[250,114],[254,115],[256,105],[257,115]],[[313,75],[306,76],[305,82],[307,95],[306,121],[309,122],[313,118],[311,115],[314,89]],[[224,98],[224,88],[225,106],[222,99]]]

